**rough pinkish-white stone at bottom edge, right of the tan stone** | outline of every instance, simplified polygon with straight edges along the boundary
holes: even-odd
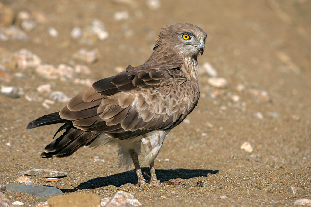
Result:
[[[107,202],[107,207],[112,206],[141,206],[142,204],[134,198],[130,193],[124,191],[118,191],[114,196],[111,196]]]

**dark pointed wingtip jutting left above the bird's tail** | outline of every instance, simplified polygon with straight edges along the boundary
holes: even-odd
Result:
[[[27,129],[41,127],[41,126],[45,126],[45,125],[49,125],[49,124],[59,124],[59,123],[69,122],[69,120],[67,120],[67,119],[60,118],[58,112],[59,111],[56,111],[54,113],[41,116],[40,118],[29,122],[27,125]]]

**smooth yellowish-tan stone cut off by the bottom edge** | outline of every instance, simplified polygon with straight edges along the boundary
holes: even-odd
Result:
[[[54,196],[48,200],[49,206],[99,206],[100,196],[91,193]]]

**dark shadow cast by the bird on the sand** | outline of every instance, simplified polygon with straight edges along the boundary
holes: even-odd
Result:
[[[142,172],[148,172],[149,168],[142,168]],[[156,170],[157,178],[162,181],[167,181],[172,178],[194,178],[194,177],[206,177],[207,174],[216,174],[219,170],[205,170],[205,169],[158,169]],[[146,180],[149,178],[144,176]],[[94,189],[99,187],[104,187],[108,185],[113,185],[116,187],[120,187],[126,183],[131,183],[133,185],[137,184],[137,175],[135,170],[129,170],[123,173],[117,173],[114,175],[110,175],[107,177],[99,177],[93,178],[86,182],[80,183],[77,187],[73,189],[61,189],[64,193],[74,192],[83,189]]]

